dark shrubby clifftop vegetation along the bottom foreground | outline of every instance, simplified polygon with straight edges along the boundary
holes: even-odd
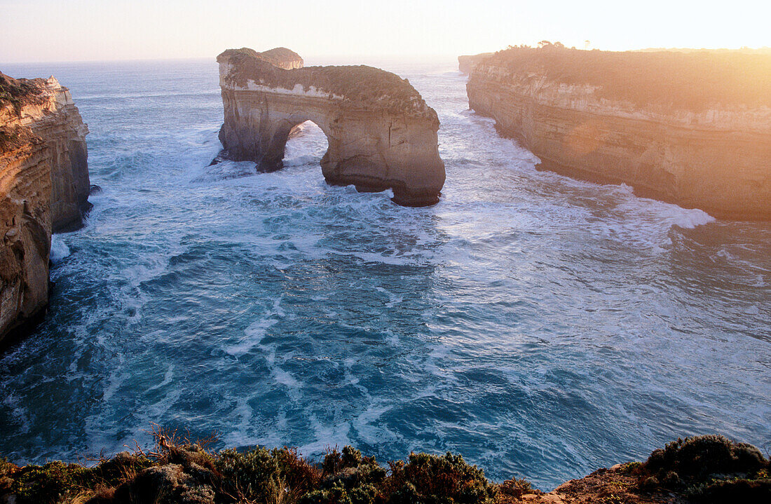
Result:
[[[92,467],[18,467],[0,459],[0,502],[509,504],[570,502],[571,496],[588,498],[581,502],[768,502],[757,499],[771,496],[769,461],[753,446],[719,436],[678,439],[647,462],[601,469],[571,482],[572,489],[545,495],[524,479],[489,482],[481,469],[449,452],[411,453],[382,465],[345,446],[314,463],[295,449],[215,453],[207,449],[210,439],[190,442],[160,428],[153,435],[152,451],[137,447]],[[581,486],[584,480],[589,483]]]

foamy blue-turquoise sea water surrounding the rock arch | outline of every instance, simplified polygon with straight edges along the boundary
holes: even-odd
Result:
[[[326,186],[313,125],[281,172],[207,166],[211,61],[2,68],[70,87],[103,190],[54,240],[45,322],[0,355],[0,453],[110,454],[157,422],[452,450],[550,488],[682,435],[768,445],[769,224],[537,172],[454,62],[373,63],[439,113],[435,207]]]

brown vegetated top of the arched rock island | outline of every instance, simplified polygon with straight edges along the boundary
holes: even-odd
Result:
[[[436,118],[436,112],[426,105],[409,81],[392,72],[364,65],[285,70],[263,59],[261,54],[264,53],[251,49],[228,49],[217,56],[221,64],[221,86],[235,90],[250,89],[250,86],[286,89],[339,99],[367,109]]]

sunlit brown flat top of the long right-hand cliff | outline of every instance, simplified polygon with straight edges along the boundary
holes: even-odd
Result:
[[[771,107],[771,54],[582,51],[555,45],[513,47],[482,66],[502,81],[538,79],[593,86],[599,98],[636,106],[699,112],[715,108]]]

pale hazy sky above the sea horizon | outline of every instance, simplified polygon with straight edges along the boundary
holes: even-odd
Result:
[[[301,55],[476,54],[562,42],[579,49],[771,45],[771,2],[678,0],[0,0],[0,62]]]

